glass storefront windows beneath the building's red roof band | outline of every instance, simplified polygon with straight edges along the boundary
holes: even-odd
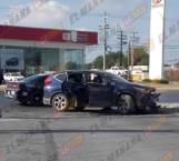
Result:
[[[4,57],[13,61],[11,67],[4,66]],[[84,66],[82,49],[1,47],[0,58],[1,69],[6,71],[17,69],[28,76],[47,71],[80,70]]]

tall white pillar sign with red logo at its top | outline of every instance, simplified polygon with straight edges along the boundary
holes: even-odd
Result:
[[[151,0],[150,79],[163,78],[165,4],[166,0]]]

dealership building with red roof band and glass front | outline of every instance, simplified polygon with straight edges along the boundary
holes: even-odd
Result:
[[[86,47],[98,33],[0,26],[0,69],[34,74],[84,68]]]

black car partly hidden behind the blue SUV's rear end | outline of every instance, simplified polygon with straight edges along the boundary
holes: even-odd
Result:
[[[31,76],[19,82],[16,99],[21,104],[41,105],[43,98],[44,80],[49,74]]]

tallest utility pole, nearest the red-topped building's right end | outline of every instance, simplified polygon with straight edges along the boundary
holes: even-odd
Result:
[[[105,17],[103,17],[103,27],[100,26],[100,30],[103,31],[103,71],[106,71],[106,56],[108,52],[107,37],[108,37],[108,30],[109,30],[109,24],[107,23],[107,12],[106,11],[105,11]]]

